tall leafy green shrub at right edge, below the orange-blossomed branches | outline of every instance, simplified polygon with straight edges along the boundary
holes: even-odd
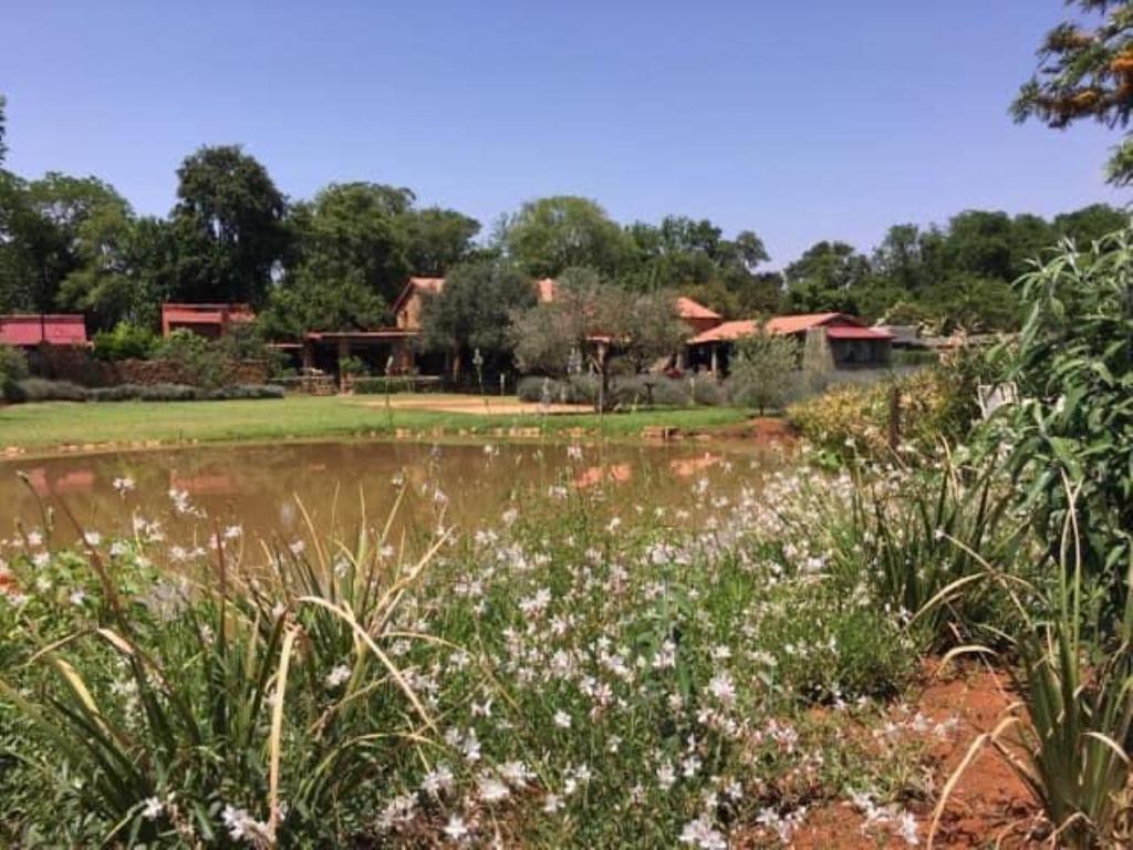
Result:
[[[1023,402],[997,444],[1046,538],[1076,494],[1085,569],[1116,593],[1133,556],[1133,230],[1065,247],[1021,281],[1028,318],[1007,350]]]

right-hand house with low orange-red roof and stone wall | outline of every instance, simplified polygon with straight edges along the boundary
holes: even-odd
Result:
[[[808,335],[820,334],[830,349],[834,367],[884,368],[889,365],[893,334],[868,328],[861,320],[845,313],[804,313],[775,316],[765,323],[757,318],[722,322],[688,341],[688,363],[692,368],[707,368],[714,374],[727,372],[727,359],[736,340],[766,330],[773,335],[793,337],[804,342]]]

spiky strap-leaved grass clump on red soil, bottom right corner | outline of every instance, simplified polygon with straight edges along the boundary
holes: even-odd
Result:
[[[985,563],[1023,622],[1012,641],[1019,658],[1020,714],[1005,717],[973,742],[939,800],[934,833],[964,770],[990,745],[1041,806],[1053,844],[1093,850],[1133,841],[1127,750],[1133,732],[1133,594],[1126,592],[1113,643],[1091,645],[1085,635],[1104,632],[1083,628],[1091,588],[1082,569],[1076,493],[1068,484],[1066,492],[1071,510],[1059,546],[1058,579],[1046,604],[1036,604],[1042,600],[1038,588]],[[1133,563],[1126,581],[1130,578]]]

